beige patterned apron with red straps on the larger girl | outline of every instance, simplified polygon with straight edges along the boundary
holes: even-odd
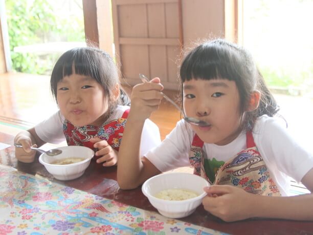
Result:
[[[195,135],[189,153],[193,174],[207,179],[211,184],[228,184],[240,187],[248,193],[264,196],[281,196],[278,187],[267,169],[254,143],[251,132],[247,132],[247,148],[225,162],[216,172],[214,182],[205,172],[204,142]]]

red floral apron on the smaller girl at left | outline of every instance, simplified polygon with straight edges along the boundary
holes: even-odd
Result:
[[[90,139],[99,137],[102,140],[106,140],[116,151],[119,151],[128,113],[129,110],[126,110],[121,118],[104,123],[101,126],[74,126],[71,122],[65,120],[63,133],[66,142],[68,142],[68,145],[86,146],[94,149],[94,143],[90,142]],[[97,151],[97,149],[95,150]]]

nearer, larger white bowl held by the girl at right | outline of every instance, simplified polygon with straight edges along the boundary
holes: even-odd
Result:
[[[190,173],[165,173],[146,180],[142,185],[142,192],[161,215],[169,218],[182,218],[189,216],[202,203],[202,199],[207,195],[203,188],[209,185],[204,178]],[[161,190],[173,188],[188,189],[199,196],[182,201],[154,197]]]

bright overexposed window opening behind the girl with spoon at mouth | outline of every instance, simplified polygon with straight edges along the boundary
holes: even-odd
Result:
[[[242,44],[275,94],[288,128],[311,147],[313,1],[242,1]]]

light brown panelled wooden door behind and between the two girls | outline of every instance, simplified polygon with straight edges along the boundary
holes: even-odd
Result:
[[[178,59],[183,45],[181,0],[113,0],[117,62],[124,83],[141,82],[139,73],[160,77],[177,89]]]

